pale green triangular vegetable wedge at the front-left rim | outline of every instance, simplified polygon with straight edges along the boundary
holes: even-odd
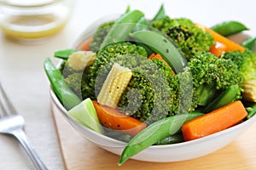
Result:
[[[77,122],[85,127],[89,127],[97,133],[103,133],[94,105],[90,98],[84,99],[79,105],[67,111],[67,115],[72,116]]]

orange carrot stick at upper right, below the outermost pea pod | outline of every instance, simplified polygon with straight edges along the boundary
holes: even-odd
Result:
[[[225,49],[225,52],[237,51],[237,50],[240,50],[241,52],[245,51],[245,48],[243,48],[241,45],[237,44],[236,42],[232,42],[230,39],[226,37],[223,37],[222,35],[218,34],[216,31],[212,31],[207,27],[204,27],[204,30],[209,32],[216,42],[223,43],[227,47]]]

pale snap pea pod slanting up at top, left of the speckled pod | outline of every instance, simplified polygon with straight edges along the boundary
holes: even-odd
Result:
[[[137,21],[140,20],[143,15],[144,14],[139,10],[132,10],[123,14],[119,20],[114,23],[110,31],[108,31],[101,48],[113,42],[125,41],[134,26],[136,26]]]

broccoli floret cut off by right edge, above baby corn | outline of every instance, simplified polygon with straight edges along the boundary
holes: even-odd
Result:
[[[245,52],[230,51],[224,53],[221,58],[231,59],[241,71],[244,81],[256,80],[256,54],[246,49]]]

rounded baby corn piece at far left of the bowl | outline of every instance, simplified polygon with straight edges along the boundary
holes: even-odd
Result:
[[[96,53],[91,51],[77,51],[67,59],[67,64],[76,71],[83,71],[85,67],[92,65],[96,60]]]

